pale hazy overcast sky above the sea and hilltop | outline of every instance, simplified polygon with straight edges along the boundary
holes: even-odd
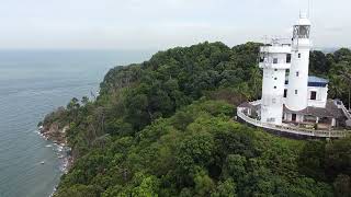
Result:
[[[0,0],[0,48],[165,49],[291,36],[307,0]],[[316,47],[351,46],[351,1],[313,0]]]

